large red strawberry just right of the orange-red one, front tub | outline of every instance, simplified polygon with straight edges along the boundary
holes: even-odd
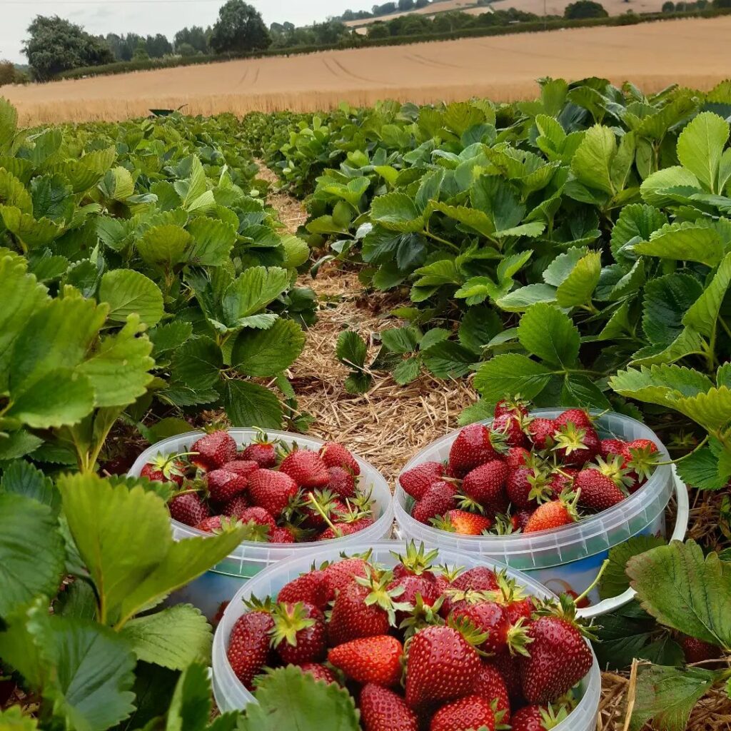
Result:
[[[466,696],[480,666],[477,650],[456,629],[420,629],[406,659],[406,703],[420,708]]]

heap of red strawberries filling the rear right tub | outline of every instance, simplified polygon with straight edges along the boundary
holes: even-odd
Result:
[[[489,427],[463,428],[446,464],[421,463],[399,482],[420,523],[466,535],[534,533],[620,503],[658,457],[649,439],[600,439],[583,409],[531,417],[515,399],[499,401]]]

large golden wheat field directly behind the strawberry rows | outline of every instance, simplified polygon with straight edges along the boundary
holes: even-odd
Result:
[[[665,20],[406,46],[227,61],[118,76],[5,86],[24,124],[119,120],[150,108],[189,113],[308,111],[341,101],[436,102],[536,94],[543,76],[597,75],[646,91],[671,83],[711,88],[731,77],[731,18]]]

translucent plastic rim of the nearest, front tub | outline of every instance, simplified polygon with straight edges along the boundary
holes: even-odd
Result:
[[[376,553],[379,549],[383,550],[404,550],[406,546],[406,543],[403,541],[376,541],[373,544],[354,544],[352,547],[349,548],[349,551],[352,550],[352,553],[361,553],[366,550],[374,550],[374,553]],[[535,592],[539,596],[545,596],[547,598],[554,598],[556,599],[556,594],[553,594],[550,589],[543,586],[541,583],[539,583],[537,580],[529,577],[525,573],[521,572],[518,569],[512,569],[508,567],[506,564],[502,563],[501,561],[497,561],[493,558],[488,558],[485,560],[484,556],[478,556],[477,554],[472,553],[466,553],[464,551],[454,549],[454,548],[447,548],[447,547],[441,547],[436,546],[433,544],[425,543],[426,548],[439,548],[440,554],[444,553],[447,554],[446,561],[449,563],[458,563],[460,565],[466,564],[474,566],[485,566],[486,564],[490,567],[493,567],[495,569],[506,569],[509,575],[512,575],[513,577],[518,578],[520,583],[523,583],[523,586],[526,586],[526,588],[531,589],[531,593]],[[328,551],[328,553],[330,553]],[[457,561],[452,561],[452,557],[457,559]],[[225,702],[222,698],[219,697],[219,694],[222,692],[219,690],[218,683],[216,683],[216,675],[219,672],[223,672],[224,675],[227,676],[227,679],[229,681],[235,681],[235,683],[238,686],[238,690],[241,692],[241,696],[243,699],[246,700],[246,703],[251,702],[257,702],[256,698],[254,697],[254,694],[249,692],[240,681],[238,681],[238,678],[233,673],[233,670],[231,669],[231,666],[227,660],[226,657],[226,647],[227,647],[227,641],[228,637],[224,637],[224,627],[227,624],[227,615],[232,615],[235,612],[235,609],[238,608],[240,605],[242,605],[241,599],[243,596],[249,596],[252,594],[251,584],[256,584],[258,582],[263,582],[267,580],[271,575],[276,575],[278,572],[282,572],[283,570],[289,569],[289,567],[295,566],[296,564],[300,564],[303,562],[304,556],[292,556],[290,558],[284,559],[283,561],[279,561],[276,564],[272,564],[267,569],[264,569],[262,572],[257,574],[256,577],[253,579],[247,581],[232,597],[230,605],[226,608],[224,612],[223,618],[221,618],[221,622],[219,623],[219,626],[216,628],[216,633],[213,635],[213,651],[212,651],[212,659],[213,659],[213,696],[216,700],[216,705],[218,706],[219,710],[221,712],[232,710],[233,706],[230,705],[230,703]],[[318,552],[313,552],[313,556],[311,557],[313,560],[318,558]],[[323,558],[323,557],[321,557]],[[440,555],[440,559],[444,558]],[[238,619],[239,616],[241,616],[244,612],[237,613],[236,619]],[[591,648],[591,643],[586,640],[586,643],[588,647],[591,650],[591,656],[593,659],[593,662],[591,664],[591,669],[588,671],[588,673],[584,676],[583,680],[586,682],[586,691],[583,694],[583,697],[581,697],[580,701],[577,703],[576,708],[569,713],[569,716],[567,716],[564,721],[561,721],[560,724],[558,724],[553,731],[575,731],[576,724],[580,723],[580,719],[584,718],[587,721],[589,721],[585,726],[581,727],[581,731],[592,731],[594,729],[594,725],[596,724],[596,713],[599,711],[599,699],[601,697],[602,693],[602,678],[601,673],[599,671],[599,663],[596,660],[596,656],[594,655],[594,650]],[[216,665],[219,665],[221,667],[216,667]],[[573,717],[573,718],[572,718]],[[573,721],[573,722],[572,722]]]

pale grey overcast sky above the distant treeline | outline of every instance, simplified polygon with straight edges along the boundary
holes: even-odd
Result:
[[[344,10],[370,9],[375,0],[249,0],[267,24],[305,25]],[[20,46],[36,15],[61,15],[90,33],[162,33],[173,39],[185,26],[208,26],[224,0],[0,0],[0,58],[26,63]]]

